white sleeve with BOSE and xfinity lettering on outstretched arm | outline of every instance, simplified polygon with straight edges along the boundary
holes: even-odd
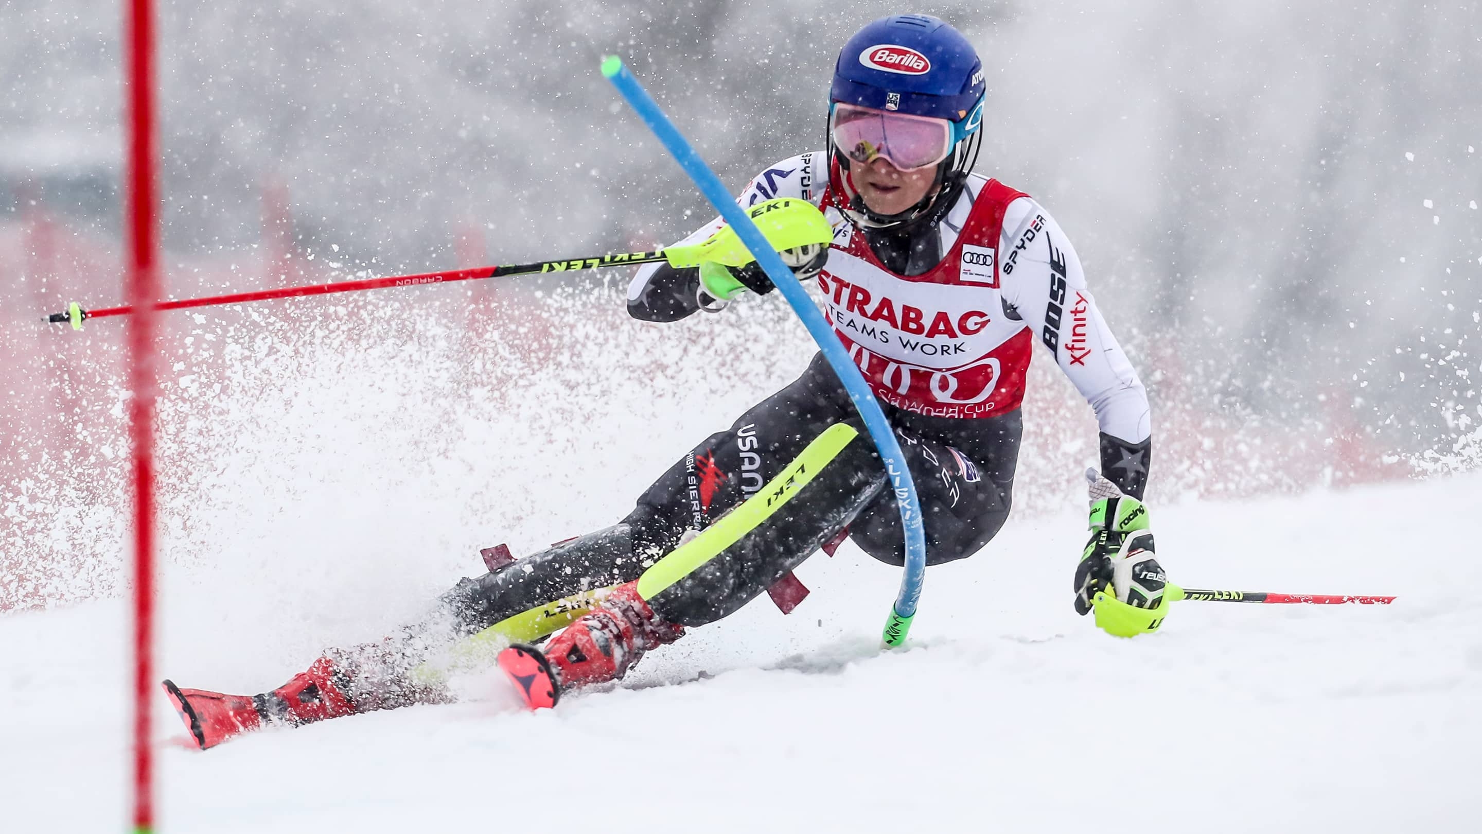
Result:
[[[1131,444],[1152,436],[1147,389],[1101,318],[1080,258],[1055,218],[1020,197],[1003,215],[999,246],[1003,300],[1055,356],[1095,410],[1101,430]]]

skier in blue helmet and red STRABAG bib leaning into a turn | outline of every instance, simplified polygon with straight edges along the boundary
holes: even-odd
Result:
[[[1092,484],[1074,608],[1088,613],[1098,594],[1159,608],[1163,574],[1141,503],[1152,454],[1146,390],[1049,212],[972,174],[984,91],[983,65],[957,30],[925,15],[877,19],[839,53],[828,150],[772,165],[738,202],[808,200],[834,226],[831,246],[794,248],[784,260],[823,294],[830,324],[895,427],[920,494],[928,565],[975,554],[1008,518],[1020,402],[1039,343],[1100,424],[1104,476]],[[722,226],[717,218],[685,242]],[[754,261],[648,266],[633,280],[628,312],[671,322],[772,289]],[[765,522],[657,594],[639,592],[639,577],[661,556],[760,491],[836,424],[858,429],[861,420],[818,355],[796,381],[670,466],[621,522],[464,579],[427,617],[379,643],[326,651],[271,692],[231,696],[165,681],[166,692],[202,748],[264,723],[442,702],[445,686],[415,674],[442,647],[609,588],[544,650],[510,647],[499,663],[532,706],[621,678],[645,651],[731,614],[845,534],[876,559],[903,564],[895,494],[861,432]]]

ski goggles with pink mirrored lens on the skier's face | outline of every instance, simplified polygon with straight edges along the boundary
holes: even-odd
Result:
[[[861,165],[885,157],[901,171],[919,171],[947,159],[953,123],[857,104],[834,102],[828,134],[839,153]]]

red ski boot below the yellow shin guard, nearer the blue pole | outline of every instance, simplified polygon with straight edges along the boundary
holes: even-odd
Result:
[[[531,709],[556,706],[563,690],[618,680],[649,649],[683,637],[685,626],[659,619],[637,585],[614,588],[544,651],[516,644],[499,653],[499,668]]]

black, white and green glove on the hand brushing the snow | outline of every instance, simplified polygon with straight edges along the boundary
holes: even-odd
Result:
[[[1168,577],[1153,551],[1147,505],[1123,496],[1095,469],[1086,470],[1086,479],[1091,481],[1091,540],[1076,567],[1076,613],[1092,611],[1100,592],[1109,592],[1117,602],[1134,608],[1162,608]],[[1162,622],[1160,616],[1144,619],[1149,622],[1134,634],[1153,631]],[[1101,620],[1098,611],[1097,625],[1119,637],[1131,637],[1107,628]]]

